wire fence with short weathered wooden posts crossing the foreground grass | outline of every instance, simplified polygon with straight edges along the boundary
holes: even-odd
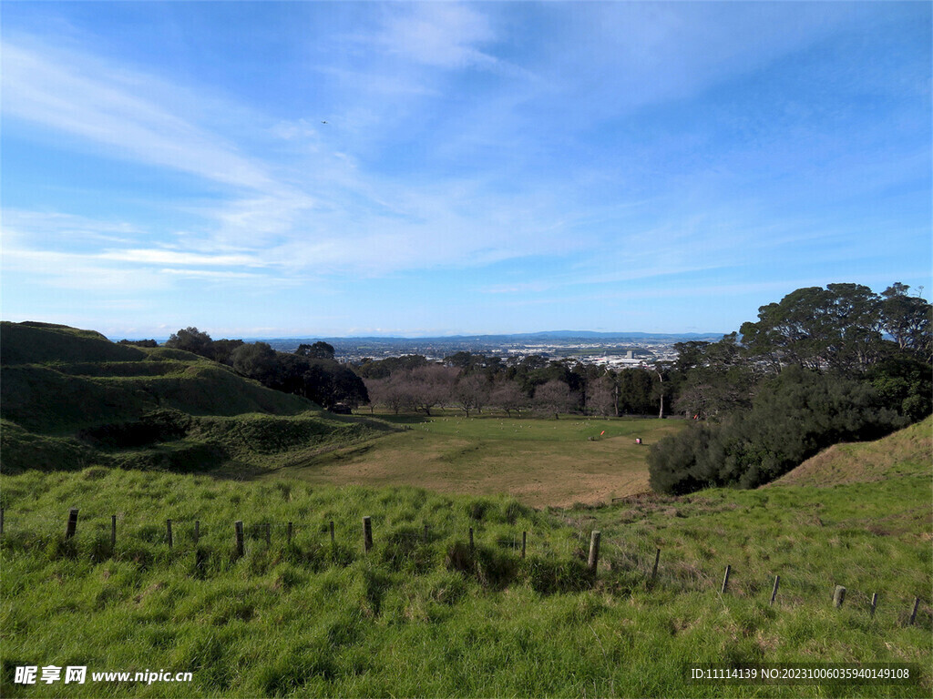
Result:
[[[8,550],[21,546],[28,549],[36,543],[84,540],[103,544],[105,555],[116,556],[122,542],[132,541],[162,547],[173,555],[193,553],[196,561],[202,561],[205,546],[226,549],[235,558],[257,550],[300,549],[328,543],[358,547],[359,553],[368,555],[376,545],[403,544],[405,550],[414,551],[445,541],[451,546],[466,547],[470,555],[491,548],[517,559],[535,556],[536,559],[571,562],[580,568],[585,566],[590,583],[603,583],[610,592],[644,589],[686,594],[712,589],[719,596],[761,597],[767,599],[771,607],[796,607],[822,596],[828,606],[862,611],[871,619],[885,614],[897,624],[913,625],[919,618],[924,627],[933,627],[933,609],[920,596],[907,598],[889,595],[882,589],[821,583],[813,576],[795,576],[793,571],[760,575],[755,571],[733,569],[731,564],[717,571],[676,557],[669,560],[661,548],[647,551],[645,542],[640,542],[640,548],[634,548],[630,541],[603,540],[600,531],[576,529],[570,537],[551,539],[540,532],[517,528],[503,534],[501,530],[488,533],[474,528],[406,525],[374,532],[369,516],[362,517],[360,526],[359,520],[351,523],[345,518],[325,518],[313,523],[261,519],[220,523],[199,518],[166,518],[160,522],[140,523],[136,519],[127,521],[125,514],[113,514],[109,518],[98,515],[80,520],[77,508],[69,510],[66,517],[25,511],[21,519],[17,514],[0,508],[0,548]],[[98,546],[97,551],[100,550]],[[344,555],[341,560],[349,563],[353,558]]]

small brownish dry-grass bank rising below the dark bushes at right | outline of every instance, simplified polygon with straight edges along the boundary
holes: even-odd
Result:
[[[874,442],[832,445],[769,486],[833,487],[933,471],[933,416]]]

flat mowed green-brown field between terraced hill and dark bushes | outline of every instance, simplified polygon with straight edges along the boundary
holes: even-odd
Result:
[[[261,477],[505,493],[533,507],[592,504],[648,490],[648,446],[685,426],[679,419],[465,418],[453,411],[430,418],[377,417],[409,429]],[[636,438],[643,444],[636,445]]]

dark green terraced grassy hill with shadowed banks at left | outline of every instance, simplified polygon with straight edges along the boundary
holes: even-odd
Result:
[[[63,325],[0,323],[4,473],[92,463],[198,471],[389,428],[338,418],[189,352]]]

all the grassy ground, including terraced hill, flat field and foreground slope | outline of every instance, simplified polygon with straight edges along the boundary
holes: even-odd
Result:
[[[933,691],[931,418],[771,487],[664,497],[634,437],[675,421],[336,418],[193,355],[2,331],[2,696],[62,695],[14,683],[22,665],[192,673],[69,696]],[[714,687],[689,678],[703,663],[913,679]]]

